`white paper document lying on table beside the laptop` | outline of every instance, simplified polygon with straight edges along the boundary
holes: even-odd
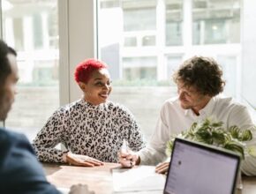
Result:
[[[153,191],[164,188],[166,175],[154,172],[153,166],[112,169],[114,192]]]

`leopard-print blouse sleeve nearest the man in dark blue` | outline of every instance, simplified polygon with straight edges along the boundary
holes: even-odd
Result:
[[[67,151],[58,150],[55,146],[64,142],[68,121],[66,115],[64,108],[57,110],[34,138],[33,146],[38,160],[64,163],[63,154]]]

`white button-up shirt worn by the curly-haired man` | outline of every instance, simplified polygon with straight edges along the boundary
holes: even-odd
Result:
[[[188,130],[192,123],[201,122],[206,118],[223,122],[223,128],[237,125],[242,130],[252,130],[254,124],[247,108],[231,98],[215,96],[205,108],[200,110],[200,116],[196,116],[192,109],[181,108],[177,98],[165,101],[162,106],[160,117],[156,123],[154,133],[146,148],[139,151],[140,164],[156,165],[166,160],[166,145],[169,139],[181,131]],[[256,145],[256,133],[247,145]],[[241,170],[245,175],[256,175],[256,158],[245,155]]]

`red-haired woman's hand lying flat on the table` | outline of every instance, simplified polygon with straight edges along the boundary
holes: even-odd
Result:
[[[94,166],[101,166],[104,164],[101,160],[96,160],[87,155],[66,153],[65,158],[68,164],[71,164],[74,166],[94,167]]]

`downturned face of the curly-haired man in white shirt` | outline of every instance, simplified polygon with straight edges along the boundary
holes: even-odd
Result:
[[[196,114],[211,99],[210,96],[199,93],[193,86],[184,86],[181,81],[177,82],[177,93],[180,106],[184,109],[192,109]]]

